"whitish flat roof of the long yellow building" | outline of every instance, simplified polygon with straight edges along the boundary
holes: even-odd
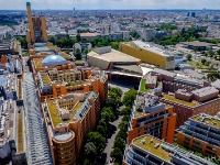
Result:
[[[162,56],[174,56],[170,52],[168,51],[165,51],[165,50],[162,50],[160,47],[156,47],[152,44],[147,44],[147,43],[144,43],[142,41],[132,41],[131,43],[135,44],[136,46],[139,46],[140,48],[142,50],[146,50],[146,51],[150,51],[150,52],[153,52],[153,53],[156,53],[156,54],[160,54]],[[130,43],[130,45],[132,46],[132,44]]]

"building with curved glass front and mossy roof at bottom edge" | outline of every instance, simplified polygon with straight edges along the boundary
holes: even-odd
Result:
[[[124,151],[123,165],[215,165],[148,134],[136,138]]]

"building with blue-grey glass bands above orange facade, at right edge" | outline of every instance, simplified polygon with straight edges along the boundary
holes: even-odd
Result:
[[[175,141],[195,152],[219,157],[220,119],[205,113],[194,116],[176,130]]]

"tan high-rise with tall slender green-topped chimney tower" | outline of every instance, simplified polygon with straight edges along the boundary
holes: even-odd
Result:
[[[26,12],[29,19],[29,32],[26,32],[26,42],[47,42],[46,19],[43,15],[33,16],[31,3],[26,2]]]

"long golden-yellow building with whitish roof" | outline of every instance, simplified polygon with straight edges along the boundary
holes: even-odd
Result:
[[[175,68],[174,55],[141,41],[120,43],[120,51],[163,69]]]

